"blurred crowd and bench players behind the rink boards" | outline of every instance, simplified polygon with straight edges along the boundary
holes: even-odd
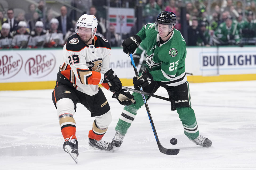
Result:
[[[86,1],[86,0],[85,0]],[[106,25],[106,5],[104,1],[88,1],[85,7],[82,0],[71,1],[74,7],[86,8],[83,14],[95,15],[98,19],[96,35],[106,38],[109,33],[111,46],[120,46],[126,35],[136,34],[138,30],[131,28],[130,33],[119,35],[115,25]],[[136,1],[110,1],[112,7],[135,8]],[[256,7],[255,0],[142,0],[143,24],[154,23],[161,11],[171,11],[177,16],[176,29],[182,30],[181,18],[186,19],[187,46],[212,45],[256,45]],[[0,2],[1,3],[1,2]],[[182,7],[186,16],[181,17]],[[68,12],[66,6],[59,9],[60,16],[54,17],[51,8],[45,1],[38,1],[38,6],[30,4],[26,12],[14,16],[14,9],[6,11],[0,4],[0,48],[51,48],[62,47],[69,36],[74,34],[75,23],[79,18],[74,10]],[[135,16],[136,17],[136,16]],[[106,29],[107,28],[107,29]],[[122,38],[121,38],[122,37]]]

